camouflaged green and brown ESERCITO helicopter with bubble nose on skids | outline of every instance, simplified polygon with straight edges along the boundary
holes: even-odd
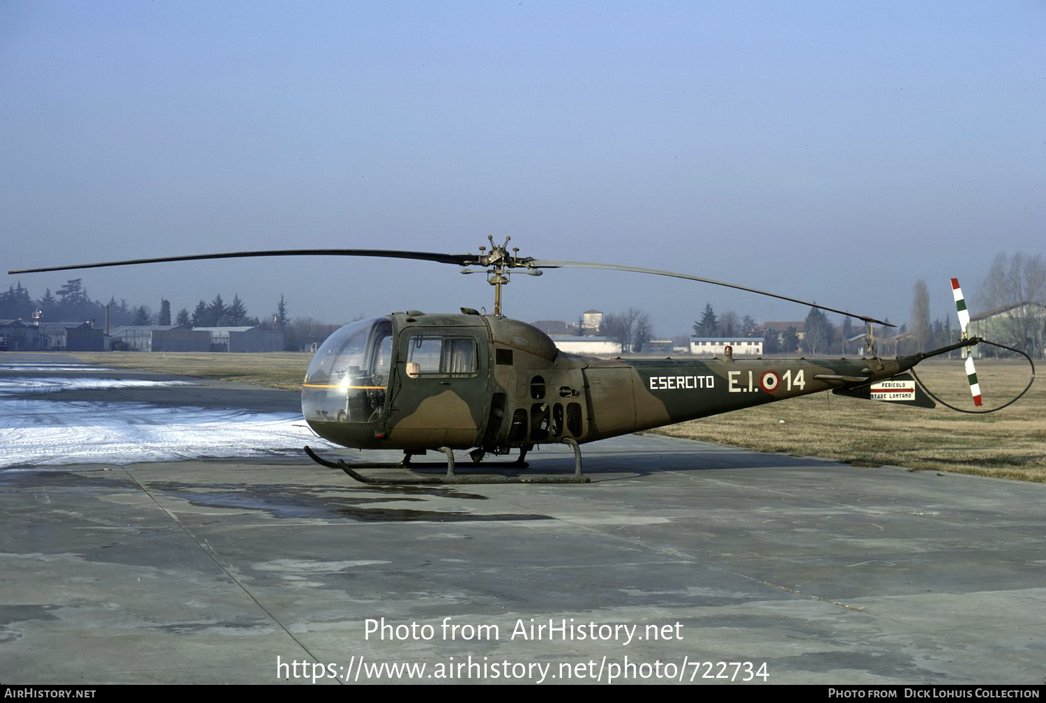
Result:
[[[884,320],[670,271],[520,256],[518,248],[509,250],[510,237],[503,244],[495,244],[493,236],[487,241],[490,247],[479,247],[479,254],[287,249],[140,258],[8,273],[301,255],[407,258],[459,266],[461,273],[485,272],[495,292],[491,314],[481,314],[471,308],[461,308],[460,313],[455,314],[408,310],[358,320],[332,334],[313,357],[301,386],[301,411],[309,427],[318,436],[343,447],[399,450],[404,452],[404,458],[396,463],[354,461],[349,466],[344,459],[323,458],[310,447],[304,447],[305,453],[324,467],[341,469],[356,480],[379,485],[587,483],[589,478],[582,469],[583,444],[827,390],[901,405],[935,407],[930,398],[932,393],[913,376],[916,364],[955,349],[969,352],[979,343],[1003,346],[980,337],[968,337],[970,315],[955,279],[953,292],[962,340],[929,352],[883,359],[874,352],[872,332],[876,323],[894,326]],[[683,278],[854,317],[867,326],[868,358],[735,359],[729,347],[722,357],[712,359],[608,360],[567,354],[559,350],[544,332],[505,317],[501,310],[502,288],[509,282],[513,273],[542,275],[546,269],[562,268]],[[1003,348],[1023,354],[1019,349]],[[1028,361],[1030,363],[1030,358]],[[912,373],[908,373],[909,370]],[[967,371],[971,392],[980,405],[976,370],[969,354]],[[1033,365],[1031,378],[1033,381]],[[1029,381],[1028,387],[1030,385]],[[1026,391],[1027,388],[1021,394]],[[497,466],[518,470],[527,468],[528,452],[549,444],[572,448],[572,475],[528,476],[519,475],[518,471],[515,475],[455,473],[454,451],[468,451],[477,464],[487,455],[507,455],[517,451],[518,458],[514,462]],[[428,451],[446,455],[445,475],[386,478],[357,471],[417,468],[412,463],[413,457]]]

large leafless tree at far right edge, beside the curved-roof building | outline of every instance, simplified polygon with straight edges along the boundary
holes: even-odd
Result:
[[[981,284],[976,334],[1042,357],[1046,335],[1046,264],[1041,255],[999,254]]]

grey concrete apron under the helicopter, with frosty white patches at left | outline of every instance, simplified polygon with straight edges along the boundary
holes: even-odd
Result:
[[[23,363],[41,359],[69,361]],[[197,385],[69,402],[234,419],[297,400],[164,378]],[[65,423],[70,455],[121,411],[87,407]],[[132,436],[98,463],[36,466],[12,447],[63,415],[17,410],[0,421],[4,683],[1046,679],[1046,485],[658,435],[585,446],[587,485],[363,486],[297,454],[293,432],[263,455],[222,457],[185,430],[174,458],[142,460]],[[528,460],[573,469],[568,449]]]

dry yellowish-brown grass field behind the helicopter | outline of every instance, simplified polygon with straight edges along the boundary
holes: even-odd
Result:
[[[310,355],[76,353],[106,366],[140,368],[297,390]],[[973,409],[962,363],[928,361],[916,370],[949,403]],[[985,407],[1016,395],[1027,383],[1025,362],[978,362]],[[714,417],[681,423],[659,432],[746,447],[760,452],[819,456],[857,466],[894,464],[913,470],[954,471],[1046,482],[1046,386],[1039,383],[1018,403],[997,413],[969,415],[819,393]]]

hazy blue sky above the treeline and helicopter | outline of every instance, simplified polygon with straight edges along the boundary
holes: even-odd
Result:
[[[669,269],[891,321],[1041,253],[1046,3],[0,3],[3,270],[279,248]],[[492,307],[392,259],[20,276],[175,311],[221,293],[329,322]],[[15,284],[6,276],[4,285]],[[5,288],[4,288],[5,290]],[[607,271],[517,275],[505,313],[806,309]],[[971,301],[976,307],[976,300]],[[835,316],[833,316],[835,319]]]

